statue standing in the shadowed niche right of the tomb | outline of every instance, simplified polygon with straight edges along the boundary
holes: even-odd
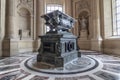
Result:
[[[79,36],[80,36],[81,31],[87,31],[87,35],[89,35],[88,17],[89,16],[81,16],[81,17],[78,18]]]

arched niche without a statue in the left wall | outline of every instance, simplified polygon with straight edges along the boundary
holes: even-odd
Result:
[[[18,17],[20,39],[31,37],[31,13],[26,8],[20,8]]]

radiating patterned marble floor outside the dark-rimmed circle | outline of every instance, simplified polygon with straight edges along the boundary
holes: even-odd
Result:
[[[37,53],[0,59],[0,80],[120,80],[120,56],[92,51],[86,53],[86,56],[98,60],[99,66],[87,72],[67,75],[44,74],[27,69],[23,63]]]

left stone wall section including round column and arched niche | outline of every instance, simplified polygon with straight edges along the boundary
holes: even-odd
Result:
[[[4,1],[6,1],[6,10],[4,10],[6,15],[3,26],[5,29],[2,27],[3,34],[5,33],[2,40],[2,56],[16,55],[20,53],[20,50],[22,50],[21,52],[34,51],[35,48],[31,45],[37,37],[35,35],[36,12],[34,12],[36,0]],[[27,44],[30,46],[28,47]]]

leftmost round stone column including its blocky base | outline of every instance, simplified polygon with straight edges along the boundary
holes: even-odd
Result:
[[[6,0],[5,37],[2,44],[2,56],[12,56],[18,52],[15,40],[15,0]]]

